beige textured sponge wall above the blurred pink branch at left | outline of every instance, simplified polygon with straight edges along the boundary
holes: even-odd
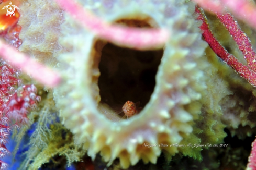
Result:
[[[63,13],[54,1],[21,1],[19,51],[29,53],[48,66],[57,64],[56,56],[63,51],[58,43]]]

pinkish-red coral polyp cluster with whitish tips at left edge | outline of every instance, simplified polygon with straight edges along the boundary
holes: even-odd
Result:
[[[10,130],[28,124],[28,112],[37,107],[41,100],[37,95],[37,88],[32,85],[20,86],[20,72],[1,60],[0,67],[0,157],[9,151],[6,148]],[[6,169],[7,164],[0,161],[1,169]]]

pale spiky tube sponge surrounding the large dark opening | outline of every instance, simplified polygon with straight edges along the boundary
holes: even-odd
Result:
[[[139,25],[151,18],[149,26],[168,28],[172,32],[172,37],[164,45],[150,100],[140,114],[128,120],[120,120],[120,116],[101,101],[99,95],[101,72],[98,65],[107,42],[97,41],[93,34],[66,16],[62,28],[63,34],[68,36],[62,37],[60,42],[70,52],[60,55],[59,60],[67,83],[56,89],[54,96],[64,125],[71,129],[76,143],[83,144],[93,159],[101,152],[109,165],[117,157],[124,168],[135,165],[140,159],[144,163],[156,163],[161,146],[148,148],[144,143],[179,144],[183,137],[192,133],[193,120],[201,113],[198,100],[206,88],[202,67],[198,64],[206,44],[194,24],[195,18],[188,12],[190,7],[183,3],[120,1],[111,8],[94,9],[97,15],[104,16],[109,22],[137,20]],[[140,8],[141,5],[144,7]],[[80,38],[76,39],[77,36]],[[114,70],[113,74],[116,73]],[[174,155],[178,149],[170,147],[168,152]]]

